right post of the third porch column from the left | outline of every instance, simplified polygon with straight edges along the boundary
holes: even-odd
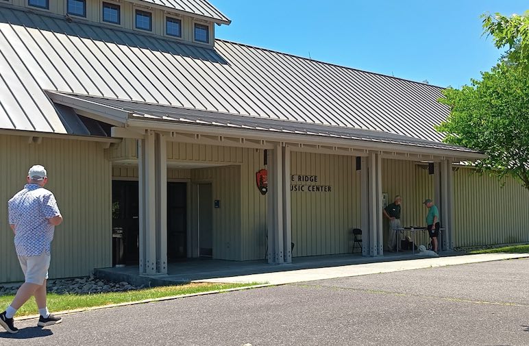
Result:
[[[378,153],[369,154],[369,256],[384,255],[382,233],[382,159]]]

